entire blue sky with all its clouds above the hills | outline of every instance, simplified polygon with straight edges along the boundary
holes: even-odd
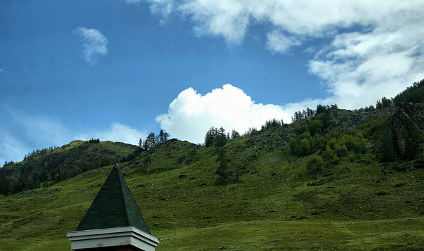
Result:
[[[0,163],[74,139],[203,142],[424,78],[423,1],[0,1]]]

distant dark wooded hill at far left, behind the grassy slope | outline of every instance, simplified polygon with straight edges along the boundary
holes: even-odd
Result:
[[[137,146],[121,142],[75,140],[50,153],[0,168],[0,194],[52,185],[88,170],[121,162]]]

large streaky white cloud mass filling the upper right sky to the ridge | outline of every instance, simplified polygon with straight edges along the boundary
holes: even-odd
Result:
[[[324,80],[328,100],[340,107],[373,104],[424,78],[422,0],[148,1],[152,13],[192,22],[197,36],[239,44],[255,24],[265,29],[264,46],[273,53],[287,54],[308,41],[313,50],[303,50],[315,52],[309,73]],[[313,43],[317,38],[326,39]]]

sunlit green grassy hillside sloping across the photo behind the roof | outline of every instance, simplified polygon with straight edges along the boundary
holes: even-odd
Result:
[[[421,111],[403,110],[417,130]],[[158,251],[423,250],[421,152],[404,155],[402,149],[416,143],[404,140],[406,123],[397,114],[335,110],[229,139],[222,146],[225,183],[217,183],[217,147],[176,139],[119,166],[160,238]],[[388,132],[390,159],[382,144]],[[306,141],[310,148],[303,152]],[[66,233],[75,230],[111,169],[1,195],[0,250],[70,250]]]

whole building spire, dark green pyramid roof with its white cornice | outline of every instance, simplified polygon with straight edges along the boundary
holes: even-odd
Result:
[[[87,248],[99,246],[114,247],[122,245],[119,243],[127,243],[128,240],[131,240],[131,243],[137,243],[134,240],[138,240],[141,245],[136,245],[132,250],[154,250],[159,243],[158,238],[151,236],[118,164],[107,176],[77,229],[69,232],[68,237],[73,250],[89,250]],[[125,238],[129,239],[123,241]],[[113,241],[115,239],[116,241]]]

